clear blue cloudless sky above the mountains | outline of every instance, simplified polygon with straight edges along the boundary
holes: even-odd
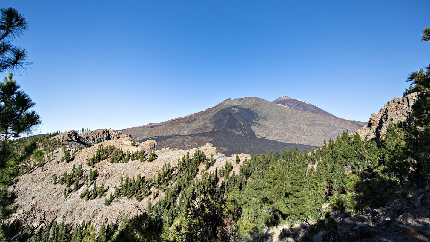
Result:
[[[4,0],[29,29],[15,79],[40,132],[140,126],[286,94],[369,121],[428,65],[428,0]],[[1,73],[6,75],[6,73]]]

